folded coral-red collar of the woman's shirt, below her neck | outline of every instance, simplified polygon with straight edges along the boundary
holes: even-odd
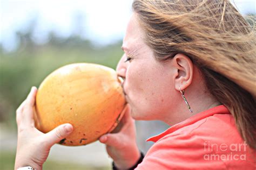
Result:
[[[193,115],[190,118],[187,118],[183,122],[180,122],[180,123],[177,123],[177,124],[171,126],[171,128],[167,129],[163,133],[160,133],[157,136],[153,136],[153,137],[147,139],[146,141],[157,142],[160,138],[163,138],[164,136],[166,136],[169,133],[172,133],[180,128],[191,125],[195,122],[200,121],[201,119],[213,116],[215,114],[230,114],[230,111],[228,111],[228,109],[225,107],[225,105],[218,105],[217,107],[199,112],[198,114]]]

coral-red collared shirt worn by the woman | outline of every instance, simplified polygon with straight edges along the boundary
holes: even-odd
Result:
[[[200,112],[165,132],[155,142],[140,169],[256,169],[256,152],[242,140],[224,105]]]

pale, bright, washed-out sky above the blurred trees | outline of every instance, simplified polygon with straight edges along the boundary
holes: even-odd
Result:
[[[256,0],[234,2],[241,13],[255,13]],[[0,44],[6,51],[14,50],[15,32],[26,31],[37,19],[33,39],[38,44],[47,42],[49,31],[54,31],[59,37],[80,32],[83,38],[106,45],[124,37],[131,4],[132,0],[0,0]]]

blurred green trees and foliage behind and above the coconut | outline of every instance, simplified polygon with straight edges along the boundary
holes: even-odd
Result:
[[[32,27],[32,26],[31,26]],[[19,46],[5,53],[0,48],[0,122],[16,129],[15,112],[32,86],[39,84],[53,70],[77,62],[98,63],[113,69],[122,56],[121,41],[108,46],[96,46],[73,34],[59,38],[50,32],[49,41],[38,45],[33,41],[33,29],[17,32]]]

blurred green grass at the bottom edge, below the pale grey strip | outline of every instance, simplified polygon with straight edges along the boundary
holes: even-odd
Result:
[[[14,162],[15,162],[15,153],[10,152],[2,152],[0,153],[0,169],[1,170],[9,170],[14,169]],[[89,165],[80,165],[80,164],[72,164],[68,162],[57,162],[57,161],[46,161],[43,165],[43,169],[48,170],[56,170],[56,169],[62,169],[62,170],[70,170],[70,169],[76,169],[76,170],[109,170],[110,167],[95,167],[95,166],[89,166]]]

